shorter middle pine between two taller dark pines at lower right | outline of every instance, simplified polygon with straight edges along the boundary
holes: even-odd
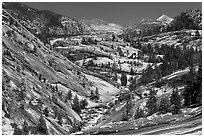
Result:
[[[162,113],[162,114],[165,114],[168,112],[169,110],[169,99],[167,97],[163,97],[160,101],[160,104],[159,104],[159,111]]]

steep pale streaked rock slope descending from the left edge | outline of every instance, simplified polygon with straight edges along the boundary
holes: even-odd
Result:
[[[88,72],[89,76],[85,75],[86,71],[50,50],[49,44],[42,43],[6,10],[3,10],[2,42],[3,134],[21,134],[25,123],[30,134],[41,134],[37,126],[41,117],[48,134],[69,134],[82,122],[72,107],[75,96],[79,101],[86,99],[87,107],[94,107],[100,103],[89,96],[96,87],[100,87],[101,97],[103,88],[114,91],[106,95],[107,101],[119,91],[100,78],[97,83],[92,81],[94,76]],[[67,100],[69,91],[71,100]]]

